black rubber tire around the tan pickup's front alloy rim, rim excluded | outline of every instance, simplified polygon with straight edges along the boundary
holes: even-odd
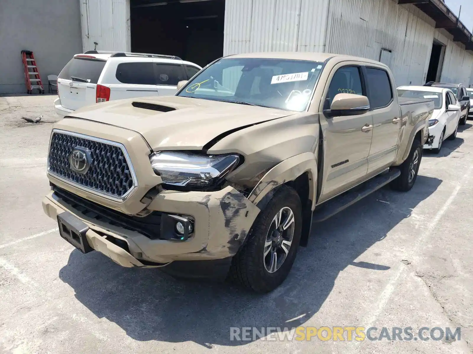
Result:
[[[265,242],[270,228],[274,225],[273,218],[283,208],[290,208],[294,215],[292,243],[280,268],[270,273],[265,265]],[[293,188],[282,186],[254,221],[246,243],[233,257],[228,277],[237,284],[261,294],[279,287],[287,278],[296,259],[301,230],[302,206],[299,196]]]

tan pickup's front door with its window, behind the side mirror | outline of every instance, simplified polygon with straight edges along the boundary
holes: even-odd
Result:
[[[337,93],[366,96],[361,81],[361,68],[355,63],[334,67],[331,75],[329,87],[325,88],[324,108],[330,108]],[[373,118],[371,112],[332,118],[321,114],[320,125],[324,137],[324,170],[319,197],[319,202],[322,202],[366,177]]]

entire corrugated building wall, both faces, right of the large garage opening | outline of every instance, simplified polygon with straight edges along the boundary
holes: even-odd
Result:
[[[473,56],[418,8],[393,0],[226,0],[224,55],[324,51],[379,60],[387,49],[396,84],[423,84],[436,34],[447,45],[441,79],[469,84]]]

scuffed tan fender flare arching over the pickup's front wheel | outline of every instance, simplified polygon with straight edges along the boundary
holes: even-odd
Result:
[[[256,205],[274,188],[293,181],[306,172],[309,175],[308,199],[312,201],[312,210],[314,210],[317,191],[315,186],[315,181],[317,181],[317,162],[313,152],[305,152],[290,157],[274,166],[254,187],[248,196],[248,200]]]

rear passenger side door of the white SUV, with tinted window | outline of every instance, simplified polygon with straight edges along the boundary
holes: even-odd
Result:
[[[158,87],[158,96],[174,96],[177,93],[177,83],[187,80],[183,64],[166,63],[153,59],[154,75]]]

